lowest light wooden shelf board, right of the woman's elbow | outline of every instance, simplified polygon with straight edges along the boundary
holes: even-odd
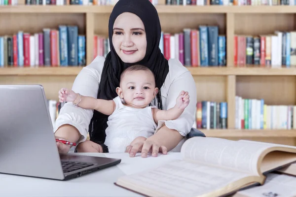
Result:
[[[296,137],[296,130],[200,130],[207,137]]]

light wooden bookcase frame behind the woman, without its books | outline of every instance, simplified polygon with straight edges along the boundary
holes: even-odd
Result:
[[[228,139],[252,139],[296,145],[296,130],[235,129],[235,96],[264,99],[269,105],[296,104],[296,68],[269,68],[248,65],[234,67],[235,34],[268,34],[296,29],[296,6],[194,6],[155,5],[166,33],[179,33],[184,28],[217,25],[226,35],[225,67],[187,67],[196,81],[198,101],[227,102],[226,130],[204,130],[207,136]],[[93,36],[108,35],[108,20],[113,6],[96,5],[15,5],[0,6],[0,35],[19,30],[28,33],[59,25],[76,25],[86,36],[86,65],[93,59]],[[82,66],[74,67],[4,67],[0,84],[41,84],[48,99],[57,100],[61,87],[72,88]]]

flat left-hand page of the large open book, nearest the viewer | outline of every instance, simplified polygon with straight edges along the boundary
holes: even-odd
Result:
[[[155,169],[120,177],[116,183],[148,196],[196,197],[217,192],[226,186],[228,192],[235,188],[238,189],[238,183],[234,182],[246,177],[254,180],[260,178],[250,177],[249,174],[239,171],[180,160]],[[245,185],[246,182],[250,180],[241,182],[241,185]],[[143,191],[155,191],[156,193],[147,194]],[[216,195],[212,194],[212,196],[220,196],[218,194],[221,192]]]

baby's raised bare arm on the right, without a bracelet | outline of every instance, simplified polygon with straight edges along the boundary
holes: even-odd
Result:
[[[153,119],[157,124],[159,120],[176,120],[181,116],[184,109],[189,104],[189,95],[188,92],[182,91],[177,100],[176,105],[173,108],[168,110],[160,110],[157,108],[152,108],[153,110]]]

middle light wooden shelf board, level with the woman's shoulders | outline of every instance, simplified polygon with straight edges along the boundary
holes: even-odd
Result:
[[[77,75],[82,66],[68,67],[4,67],[0,75]],[[194,76],[296,76],[296,68],[264,68],[264,67],[187,67]]]

